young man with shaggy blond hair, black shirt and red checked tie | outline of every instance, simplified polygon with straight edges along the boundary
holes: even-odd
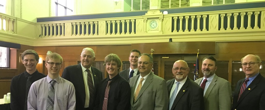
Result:
[[[120,58],[116,54],[109,54],[105,57],[104,66],[109,77],[100,83],[94,110],[129,110],[131,90],[129,83],[118,74]]]

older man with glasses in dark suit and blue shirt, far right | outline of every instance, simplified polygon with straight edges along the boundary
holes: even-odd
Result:
[[[249,54],[241,59],[246,77],[236,84],[232,110],[264,110],[265,78],[260,75],[259,56]]]

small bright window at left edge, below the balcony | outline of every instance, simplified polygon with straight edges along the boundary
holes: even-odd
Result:
[[[9,48],[0,46],[0,68],[9,68]]]

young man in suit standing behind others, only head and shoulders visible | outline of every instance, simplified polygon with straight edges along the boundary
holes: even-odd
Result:
[[[126,70],[122,70],[120,72],[120,76],[123,77],[124,79],[126,79],[127,81],[131,77],[140,74],[140,72],[138,71],[138,68],[137,68],[137,66],[138,66],[137,61],[138,61],[138,57],[140,54],[141,54],[141,52],[139,50],[131,50],[130,56],[129,56],[130,68],[126,69]]]

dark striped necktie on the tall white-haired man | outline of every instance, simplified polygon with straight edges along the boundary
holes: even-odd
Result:
[[[92,107],[94,101],[94,85],[90,74],[90,70],[86,69],[86,72],[87,72],[87,84],[89,88],[89,107]]]

